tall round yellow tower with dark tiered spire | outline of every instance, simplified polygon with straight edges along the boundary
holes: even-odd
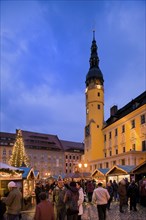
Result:
[[[90,162],[103,158],[104,79],[99,68],[99,58],[93,31],[90,68],[86,75],[86,126],[85,158]]]

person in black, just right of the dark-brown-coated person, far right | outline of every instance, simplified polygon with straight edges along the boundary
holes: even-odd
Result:
[[[134,211],[137,211],[136,204],[137,198],[139,197],[139,189],[134,180],[129,185],[127,193],[130,198],[130,210],[134,208]]]

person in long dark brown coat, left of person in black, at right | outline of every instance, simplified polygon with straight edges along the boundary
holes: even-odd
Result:
[[[121,180],[118,186],[118,194],[119,194],[119,209],[120,212],[123,213],[123,205],[126,204],[127,201],[127,190],[126,190],[126,182],[125,180]]]

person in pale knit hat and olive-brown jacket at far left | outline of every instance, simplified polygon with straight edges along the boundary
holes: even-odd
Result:
[[[3,198],[3,202],[7,206],[7,219],[19,220],[22,194],[13,181],[8,183],[8,189],[10,191],[8,196]]]

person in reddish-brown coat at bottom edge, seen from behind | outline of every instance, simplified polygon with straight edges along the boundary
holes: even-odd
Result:
[[[40,203],[36,206],[34,220],[55,220],[54,208],[49,200],[47,200],[46,192],[41,192]]]

